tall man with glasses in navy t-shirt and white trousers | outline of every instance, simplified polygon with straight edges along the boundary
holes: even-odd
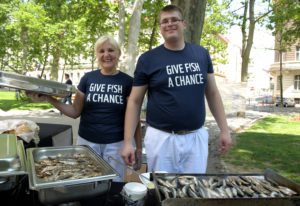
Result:
[[[180,8],[165,6],[159,23],[165,42],[138,60],[125,115],[122,157],[128,165],[135,161],[131,139],[148,91],[144,138],[148,171],[205,173],[205,97],[220,128],[221,152],[227,152],[231,145],[212,62],[206,49],[184,41],[186,23]]]

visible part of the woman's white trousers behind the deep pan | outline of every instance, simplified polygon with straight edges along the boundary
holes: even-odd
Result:
[[[108,159],[109,156],[123,162],[123,159],[120,154],[120,150],[123,147],[123,142],[116,142],[110,144],[97,144],[89,142],[86,139],[78,136],[77,145],[88,145],[90,146],[97,154],[99,154],[106,162],[109,163],[120,175],[113,179],[114,182],[124,182],[125,167],[112,159]]]

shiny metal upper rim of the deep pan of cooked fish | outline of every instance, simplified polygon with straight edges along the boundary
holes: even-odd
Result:
[[[60,146],[60,147],[40,147],[28,148],[27,152],[27,171],[29,176],[29,187],[33,190],[71,186],[77,184],[94,183],[98,181],[110,180],[118,176],[118,173],[89,146]],[[35,162],[53,157],[56,155],[74,155],[86,154],[95,161],[97,166],[101,167],[101,175],[94,177],[84,177],[80,179],[61,179],[61,180],[43,180],[37,176]]]

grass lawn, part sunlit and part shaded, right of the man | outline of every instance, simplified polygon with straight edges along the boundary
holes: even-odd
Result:
[[[300,184],[300,121],[291,116],[269,116],[237,135],[223,160],[237,172],[274,169]]]

